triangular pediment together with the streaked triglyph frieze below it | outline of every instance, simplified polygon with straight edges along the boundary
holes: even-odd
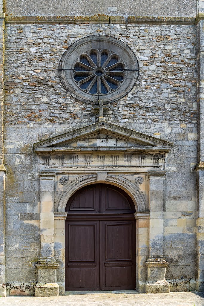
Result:
[[[100,121],[35,143],[34,147],[39,153],[39,170],[146,172],[164,170],[165,152],[170,145],[165,140]]]

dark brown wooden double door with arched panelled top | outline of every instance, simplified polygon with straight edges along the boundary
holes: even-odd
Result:
[[[135,289],[135,205],[122,189],[93,184],[66,205],[65,291]]]

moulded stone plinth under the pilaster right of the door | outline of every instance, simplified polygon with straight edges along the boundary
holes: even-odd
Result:
[[[149,257],[144,263],[147,267],[146,293],[169,293],[169,283],[166,281],[168,262],[162,257]]]

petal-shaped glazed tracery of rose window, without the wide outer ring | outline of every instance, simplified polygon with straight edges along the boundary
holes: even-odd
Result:
[[[125,64],[109,50],[90,50],[79,56],[73,79],[79,88],[92,95],[106,95],[120,88],[126,78]]]

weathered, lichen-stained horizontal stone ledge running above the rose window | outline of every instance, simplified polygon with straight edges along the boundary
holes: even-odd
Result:
[[[3,17],[3,15],[2,15]],[[1,18],[1,16],[0,16]],[[7,23],[56,23],[56,24],[83,24],[83,23],[106,23],[106,24],[195,24],[204,19],[204,14],[199,13],[196,17],[153,17],[153,16],[6,16]]]

